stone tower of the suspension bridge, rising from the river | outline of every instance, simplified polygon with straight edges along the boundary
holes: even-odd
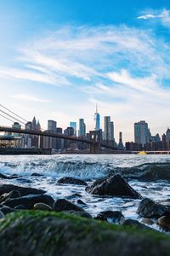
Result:
[[[101,131],[90,131],[90,140],[94,143],[90,144],[90,154],[100,153],[100,143],[101,143]]]

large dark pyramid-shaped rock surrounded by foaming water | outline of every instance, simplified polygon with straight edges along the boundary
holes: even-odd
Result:
[[[86,188],[93,195],[114,195],[141,199],[139,195],[119,174],[94,182]]]

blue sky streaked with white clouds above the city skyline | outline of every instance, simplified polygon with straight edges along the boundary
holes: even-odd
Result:
[[[133,141],[139,120],[167,131],[169,99],[168,0],[0,0],[0,104],[26,120],[94,130],[97,103]]]

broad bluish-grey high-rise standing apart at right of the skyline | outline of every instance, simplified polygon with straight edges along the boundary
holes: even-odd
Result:
[[[141,143],[143,147],[146,143],[150,143],[150,130],[145,121],[134,124],[134,142]]]

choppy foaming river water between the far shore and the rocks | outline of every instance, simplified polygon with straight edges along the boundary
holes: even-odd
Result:
[[[54,155],[0,155],[0,172],[19,174],[20,178],[0,179],[0,183],[13,183],[45,189],[54,199],[80,194],[86,203],[84,210],[96,216],[105,210],[122,211],[126,218],[141,220],[136,210],[139,200],[90,195],[83,186],[58,184],[60,177],[78,177],[89,184],[99,177],[120,173],[143,197],[161,203],[170,203],[170,156],[134,154],[54,154]],[[42,177],[32,177],[37,172]],[[77,203],[77,197],[71,201]],[[155,227],[157,229],[157,227]]]

